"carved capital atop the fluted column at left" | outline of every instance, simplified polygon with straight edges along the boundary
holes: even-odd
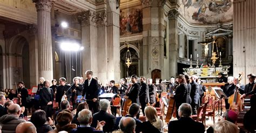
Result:
[[[35,3],[37,11],[44,10],[44,11],[51,12],[51,4],[54,1],[52,1],[52,0],[32,0],[32,2]]]

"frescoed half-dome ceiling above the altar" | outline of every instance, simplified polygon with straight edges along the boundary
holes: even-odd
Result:
[[[180,0],[179,13],[188,23],[208,25],[233,20],[233,0]]]

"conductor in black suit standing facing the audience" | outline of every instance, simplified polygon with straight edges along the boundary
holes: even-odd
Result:
[[[84,81],[84,90],[82,93],[82,98],[80,100],[85,99],[87,100],[87,104],[89,109],[92,111],[93,114],[98,112],[98,102],[97,98],[99,97],[99,87],[98,81],[92,78],[93,72],[91,70],[87,70],[85,72],[86,80]]]

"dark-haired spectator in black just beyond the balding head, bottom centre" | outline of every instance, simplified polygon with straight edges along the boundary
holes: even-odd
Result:
[[[130,108],[129,108],[129,114],[125,115],[125,117],[132,117],[136,121],[136,132],[141,132],[142,131],[142,121],[135,119],[136,115],[139,113],[140,106],[136,103],[133,103]],[[122,116],[117,117],[116,120],[116,129],[119,129],[118,123],[122,119]]]

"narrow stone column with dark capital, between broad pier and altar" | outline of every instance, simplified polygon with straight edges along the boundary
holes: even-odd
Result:
[[[176,77],[177,59],[178,59],[178,28],[177,28],[177,17],[178,11],[172,9],[168,13],[169,19],[169,75],[170,77]]]

